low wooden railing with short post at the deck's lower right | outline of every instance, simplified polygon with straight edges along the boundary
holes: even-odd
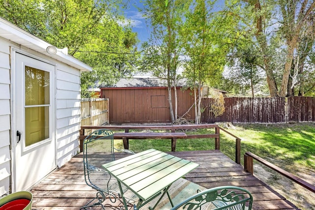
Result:
[[[309,182],[302,180],[299,177],[294,176],[293,174],[285,171],[284,169],[268,162],[267,160],[253,154],[252,152],[245,152],[244,155],[244,170],[246,172],[250,172],[253,174],[253,159],[257,160],[258,162],[262,163],[263,165],[271,168],[272,170],[282,174],[284,177],[298,183],[299,185],[303,186],[306,189],[311,190],[312,192],[315,192],[315,186],[310,184]]]

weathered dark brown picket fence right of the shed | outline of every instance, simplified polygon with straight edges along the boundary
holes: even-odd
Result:
[[[209,112],[211,98],[204,98],[203,123],[227,121],[233,123],[289,123],[314,122],[315,97],[231,97],[224,98],[225,112],[215,118]]]

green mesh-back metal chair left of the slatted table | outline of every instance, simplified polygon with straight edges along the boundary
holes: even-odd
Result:
[[[92,207],[100,207],[105,210],[102,204],[106,197],[112,203],[120,197],[120,189],[115,178],[106,172],[102,165],[115,160],[114,151],[123,151],[132,153],[131,150],[118,150],[114,148],[113,132],[107,129],[98,129],[93,131],[83,141],[83,163],[84,178],[87,185],[97,190],[96,197],[80,210],[91,209]],[[123,190],[127,188],[123,186]]]

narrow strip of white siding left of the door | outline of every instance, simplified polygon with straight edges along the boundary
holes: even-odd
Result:
[[[0,38],[0,197],[10,187],[10,47]]]

